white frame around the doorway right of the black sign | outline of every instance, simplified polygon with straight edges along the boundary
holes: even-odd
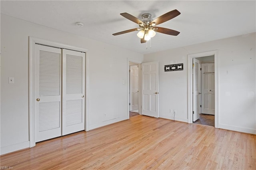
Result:
[[[193,58],[214,55],[215,128],[219,127],[218,50],[188,54],[188,123],[193,123]]]

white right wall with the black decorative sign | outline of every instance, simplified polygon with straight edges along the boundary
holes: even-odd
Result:
[[[256,134],[256,33],[144,55],[159,61],[159,116],[188,122],[188,54],[218,50],[219,128]],[[183,71],[164,65],[184,63]]]

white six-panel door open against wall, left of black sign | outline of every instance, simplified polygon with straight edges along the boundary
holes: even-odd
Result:
[[[142,115],[159,117],[158,61],[142,63]]]

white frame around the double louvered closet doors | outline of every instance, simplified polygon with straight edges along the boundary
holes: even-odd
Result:
[[[81,51],[85,52],[85,131],[90,130],[89,129],[89,59],[88,59],[88,50],[80,47],[74,47],[72,45],[66,45],[63,43],[59,42],[53,42],[53,41],[48,41],[44,40],[41,38],[35,38],[35,37],[29,37],[29,146],[34,147],[36,146],[36,140],[35,140],[35,101],[34,101],[34,90],[35,90],[35,85],[34,85],[34,62],[35,62],[35,44],[41,44],[41,45],[47,45],[51,47],[57,47],[57,48],[65,48],[65,49],[70,49],[74,51]]]

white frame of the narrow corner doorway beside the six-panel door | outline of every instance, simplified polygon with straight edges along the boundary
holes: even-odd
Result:
[[[132,63],[138,63],[138,73],[139,73],[139,114],[141,115],[141,63],[143,61],[137,60],[137,59],[132,59],[132,58],[127,58],[127,119],[130,118],[130,65],[129,62]]]

